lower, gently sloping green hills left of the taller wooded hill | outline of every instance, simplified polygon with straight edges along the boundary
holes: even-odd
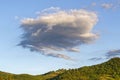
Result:
[[[28,75],[28,74],[11,74],[6,72],[0,72],[0,80],[50,80],[51,78],[62,74],[65,72],[65,69],[59,69],[57,71],[50,71],[43,75]]]

